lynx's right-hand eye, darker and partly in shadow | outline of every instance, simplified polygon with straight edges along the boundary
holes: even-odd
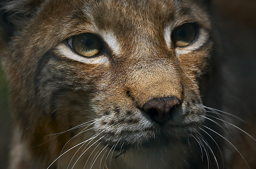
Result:
[[[184,47],[192,43],[197,35],[195,23],[184,23],[172,32],[172,41],[175,46]]]

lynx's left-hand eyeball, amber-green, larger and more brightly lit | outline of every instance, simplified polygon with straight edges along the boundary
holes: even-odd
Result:
[[[91,33],[83,33],[68,39],[70,47],[78,54],[91,57],[101,52],[100,39]]]

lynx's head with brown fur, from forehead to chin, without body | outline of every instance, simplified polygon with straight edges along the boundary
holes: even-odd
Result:
[[[14,118],[21,139],[37,146],[29,151],[47,157],[46,166],[79,132],[75,144],[88,139],[117,155],[155,152],[149,159],[160,161],[161,153],[175,154],[162,151],[186,147],[199,130],[201,81],[213,51],[203,2],[14,0],[3,6],[11,31],[2,60]]]

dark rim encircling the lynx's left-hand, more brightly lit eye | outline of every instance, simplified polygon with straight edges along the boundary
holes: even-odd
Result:
[[[85,34],[85,33],[89,33],[89,32],[84,32],[84,33],[81,33],[81,34]],[[77,35],[81,35],[81,34],[77,34]],[[90,33],[92,34],[92,33]],[[100,41],[100,45],[101,45],[101,50],[98,54],[94,55],[94,56],[84,56],[84,55],[81,55],[80,53],[77,53],[74,48],[73,48],[73,45],[72,45],[72,41],[73,41],[73,37],[77,36],[77,35],[73,35],[71,37],[68,37],[66,40],[65,40],[65,44],[68,46],[68,48],[73,52],[75,53],[76,55],[79,55],[81,57],[84,57],[84,58],[95,58],[95,57],[99,57],[99,56],[102,56],[102,55],[105,55],[107,52],[106,52],[106,45],[104,43],[104,41],[102,40],[102,38],[100,38],[99,36],[93,34],[94,36],[96,36],[99,41]]]

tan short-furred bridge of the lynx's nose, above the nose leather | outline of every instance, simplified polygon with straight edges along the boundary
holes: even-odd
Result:
[[[127,69],[128,88],[139,106],[153,98],[174,96],[182,100],[182,79],[174,61],[141,61]]]

